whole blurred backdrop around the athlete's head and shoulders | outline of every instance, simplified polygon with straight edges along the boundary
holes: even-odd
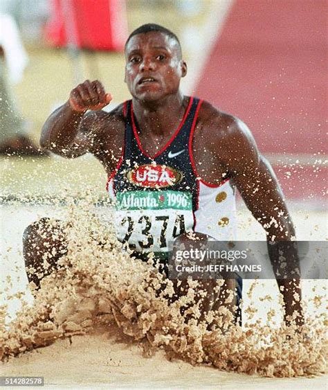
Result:
[[[47,116],[85,79],[113,94],[109,109],[128,99],[122,48],[153,22],[181,39],[185,94],[247,123],[291,204],[325,209],[326,0],[1,0],[0,13],[3,200],[104,194],[93,157],[15,157],[15,148],[37,147]]]

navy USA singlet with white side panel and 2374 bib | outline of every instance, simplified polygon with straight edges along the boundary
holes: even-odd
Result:
[[[219,185],[203,181],[192,156],[201,103],[190,97],[179,127],[154,156],[140,143],[132,101],[124,104],[125,141],[107,190],[116,205],[118,240],[127,242],[134,251],[152,251],[163,257],[168,243],[186,231],[221,241],[235,240],[233,186],[229,179]]]

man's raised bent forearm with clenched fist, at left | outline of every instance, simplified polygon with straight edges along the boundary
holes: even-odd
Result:
[[[96,112],[110,102],[111,95],[104,91],[101,82],[84,81],[48,117],[42,127],[40,145],[62,157],[78,157],[88,152],[99,129],[94,126]]]

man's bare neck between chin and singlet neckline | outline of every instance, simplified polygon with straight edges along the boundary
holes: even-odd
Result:
[[[169,136],[179,125],[185,112],[185,96],[177,94],[165,96],[156,101],[132,99],[134,114],[141,134],[163,137]]]

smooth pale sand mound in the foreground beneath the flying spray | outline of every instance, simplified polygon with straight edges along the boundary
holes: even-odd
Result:
[[[44,376],[49,387],[152,387],[215,389],[325,389],[327,376],[259,378],[227,373],[208,366],[169,362],[162,351],[143,357],[142,348],[104,333],[58,340],[1,366],[1,375]]]

